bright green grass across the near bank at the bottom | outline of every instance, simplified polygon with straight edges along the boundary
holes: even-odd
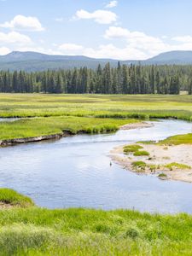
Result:
[[[13,193],[10,190],[9,194]],[[15,192],[13,202],[15,197],[20,204],[29,200]],[[34,206],[0,210],[3,256],[191,255],[191,241],[192,217],[187,214],[48,210]]]

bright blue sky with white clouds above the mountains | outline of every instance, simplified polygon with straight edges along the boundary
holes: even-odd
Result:
[[[191,0],[0,0],[0,55],[144,60],[192,50],[191,11]]]

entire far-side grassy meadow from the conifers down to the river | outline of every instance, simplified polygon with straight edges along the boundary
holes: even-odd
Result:
[[[0,117],[35,118],[0,123],[0,139],[99,133],[138,119],[191,120],[192,96],[0,94]]]

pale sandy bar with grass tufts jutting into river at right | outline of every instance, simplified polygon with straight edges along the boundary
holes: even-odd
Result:
[[[138,144],[149,153],[149,156],[134,156],[131,154],[124,154],[123,146],[114,148],[110,156],[112,160],[123,166],[131,172],[138,174],[154,174],[157,177],[160,174],[162,179],[172,179],[192,183],[192,145],[177,145],[177,146],[159,146],[155,144]],[[144,170],[137,169],[132,166],[135,161],[143,161],[146,163]],[[181,165],[190,166],[191,168],[179,168],[173,166],[166,167],[171,163],[178,163]]]

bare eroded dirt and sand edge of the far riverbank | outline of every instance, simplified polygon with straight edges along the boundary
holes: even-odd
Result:
[[[153,124],[149,124],[147,122],[138,122],[138,123],[122,125],[119,127],[119,130],[149,128],[149,127],[153,127],[153,126],[154,126]],[[8,147],[8,146],[14,146],[17,144],[24,144],[24,143],[38,143],[38,142],[42,142],[42,141],[61,139],[62,137],[70,137],[70,136],[80,135],[80,134],[89,134],[89,133],[84,132],[84,131],[78,131],[76,134],[73,134],[73,132],[71,132],[71,131],[63,131],[62,133],[58,133],[58,134],[43,135],[43,136],[38,136],[38,137],[5,139],[5,140],[0,140],[0,147]]]

